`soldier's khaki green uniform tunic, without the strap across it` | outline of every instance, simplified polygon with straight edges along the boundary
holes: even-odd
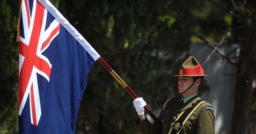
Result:
[[[135,128],[142,134],[168,134],[178,115],[183,110],[192,107],[194,102],[199,99],[197,95],[184,104],[180,104],[181,97],[167,101],[165,108],[162,109],[158,117],[158,120],[162,122],[163,129],[160,129],[156,123],[152,125],[147,118],[142,122],[138,120],[135,124]],[[187,122],[180,130],[180,134],[214,134],[214,124],[213,108],[210,103],[204,102],[200,104],[190,118],[188,118]]]

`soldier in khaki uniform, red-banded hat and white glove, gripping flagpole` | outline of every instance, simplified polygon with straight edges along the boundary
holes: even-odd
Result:
[[[182,95],[168,99],[160,112],[156,123],[151,124],[144,116],[146,102],[142,98],[133,101],[138,113],[135,128],[142,134],[214,134],[214,109],[211,104],[198,97],[198,88],[204,75],[202,65],[190,56],[181,65],[178,75],[178,92]]]

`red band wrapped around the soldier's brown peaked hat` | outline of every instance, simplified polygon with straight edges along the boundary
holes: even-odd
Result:
[[[202,68],[202,65],[197,64],[196,68],[179,69],[178,74],[179,75],[204,75],[204,69]]]

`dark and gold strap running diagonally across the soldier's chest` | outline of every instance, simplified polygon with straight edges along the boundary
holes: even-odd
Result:
[[[202,101],[201,99],[196,101],[195,104],[192,105],[192,107],[183,110],[180,115],[176,118],[174,124],[170,128],[170,131],[168,134],[179,134],[181,128],[184,126],[184,124],[187,122],[188,118],[193,114],[193,112],[200,106],[200,104],[204,103],[206,101]]]

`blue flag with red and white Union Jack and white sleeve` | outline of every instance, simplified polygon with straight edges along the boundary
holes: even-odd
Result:
[[[72,134],[100,55],[48,0],[21,6],[19,133]]]

